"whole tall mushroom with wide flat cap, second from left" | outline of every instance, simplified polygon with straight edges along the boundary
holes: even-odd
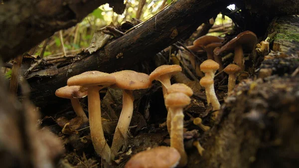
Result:
[[[106,162],[111,162],[111,151],[105,140],[102,127],[99,90],[115,82],[116,79],[113,75],[99,71],[87,71],[67,80],[68,86],[80,85],[87,87],[91,140],[97,154],[106,160]]]

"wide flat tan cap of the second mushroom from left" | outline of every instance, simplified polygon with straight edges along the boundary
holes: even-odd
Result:
[[[100,71],[87,71],[67,80],[68,86],[109,86],[116,82],[113,75]]]

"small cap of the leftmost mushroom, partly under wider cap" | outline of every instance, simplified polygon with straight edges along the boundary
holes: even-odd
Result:
[[[64,86],[57,89],[55,95],[66,99],[83,98],[87,96],[87,92],[80,92],[79,90],[80,86]]]

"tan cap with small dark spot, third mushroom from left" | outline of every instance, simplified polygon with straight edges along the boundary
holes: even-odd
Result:
[[[145,73],[123,70],[112,73],[111,75],[116,78],[116,83],[111,86],[114,88],[137,90],[147,89],[151,86],[151,82],[149,82],[149,75]]]

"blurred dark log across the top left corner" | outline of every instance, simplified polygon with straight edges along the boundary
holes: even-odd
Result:
[[[54,32],[71,27],[101,4],[122,13],[123,0],[3,0],[0,4],[0,57],[5,62]]]

